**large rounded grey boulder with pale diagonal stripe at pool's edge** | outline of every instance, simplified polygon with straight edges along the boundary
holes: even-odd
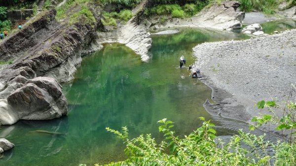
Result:
[[[54,119],[68,113],[68,103],[61,85],[50,77],[28,80],[8,96],[7,101],[20,119]]]

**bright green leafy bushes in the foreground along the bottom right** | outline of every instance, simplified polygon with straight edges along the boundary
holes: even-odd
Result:
[[[256,136],[242,130],[225,143],[216,138],[215,125],[203,117],[199,118],[203,121],[200,128],[179,138],[172,131],[173,122],[162,119],[158,123],[164,139],[159,144],[151,134],[129,139],[126,127],[122,128],[122,132],[106,128],[123,140],[128,159],[105,166],[296,166],[296,143],[292,141],[292,135],[296,133],[296,102],[287,101],[281,106],[275,101],[262,100],[257,106],[259,109],[267,108],[273,115],[254,117],[252,121],[256,125],[250,126],[250,129],[276,124],[276,130],[291,130],[290,143],[280,140],[272,143],[264,139],[265,134]],[[283,110],[282,117],[274,114],[274,107]],[[248,148],[242,147],[242,144]],[[273,155],[269,154],[270,150]]]

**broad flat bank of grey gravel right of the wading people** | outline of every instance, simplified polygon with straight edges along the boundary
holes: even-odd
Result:
[[[249,122],[259,100],[287,100],[296,84],[296,30],[242,41],[202,43],[193,48],[201,81],[219,104],[212,115]],[[278,110],[277,113],[280,113]]]

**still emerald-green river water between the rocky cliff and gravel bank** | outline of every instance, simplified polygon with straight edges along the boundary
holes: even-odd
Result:
[[[268,25],[272,26],[268,30],[273,32],[284,26],[277,25],[280,26]],[[199,127],[200,116],[213,119],[219,135],[234,134],[246,125],[211,117],[205,111],[202,104],[211,98],[211,89],[189,77],[188,66],[195,61],[191,48],[198,43],[247,38],[241,33],[205,29],[152,35],[148,63],[142,63],[124,45],[106,44],[83,58],[75,79],[63,84],[69,102],[68,116],[0,127],[0,137],[15,144],[15,148],[4,152],[0,166],[93,166],[124,160],[122,142],[105,128],[120,130],[127,126],[131,137],[152,133],[159,140],[162,134],[158,133],[156,122],[163,118],[174,121],[174,130],[180,135]],[[180,69],[182,55],[186,65]]]

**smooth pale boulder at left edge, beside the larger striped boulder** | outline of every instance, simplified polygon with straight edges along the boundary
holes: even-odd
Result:
[[[12,125],[19,120],[17,113],[7,103],[7,100],[0,100],[0,125]]]

